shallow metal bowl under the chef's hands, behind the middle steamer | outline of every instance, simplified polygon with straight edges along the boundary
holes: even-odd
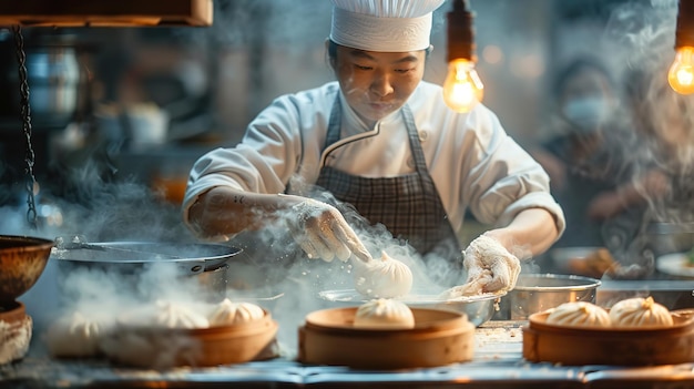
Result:
[[[440,298],[438,295],[414,293],[395,298],[415,308],[431,308],[452,310],[465,314],[468,320],[478,327],[491,319],[497,310],[499,310],[499,301],[506,294],[486,294],[479,296],[465,296],[451,299]],[[339,306],[361,305],[368,299],[355,289],[337,289],[323,290],[318,296],[325,300],[335,303]]]

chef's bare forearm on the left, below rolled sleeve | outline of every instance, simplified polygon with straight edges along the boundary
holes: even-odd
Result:
[[[217,186],[197,197],[188,211],[188,224],[206,237],[258,229],[275,218],[284,203],[277,195]]]

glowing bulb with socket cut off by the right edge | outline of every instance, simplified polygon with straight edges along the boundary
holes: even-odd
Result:
[[[667,72],[667,82],[680,94],[694,93],[694,0],[678,3],[675,60]]]

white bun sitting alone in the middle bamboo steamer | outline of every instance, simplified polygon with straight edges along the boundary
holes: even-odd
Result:
[[[402,301],[378,298],[357,308],[354,326],[374,329],[408,329],[415,327],[415,316]]]

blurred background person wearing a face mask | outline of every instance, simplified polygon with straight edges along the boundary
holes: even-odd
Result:
[[[634,127],[639,108],[631,96],[624,99],[612,73],[590,58],[558,73],[553,96],[558,134],[531,154],[550,175],[565,213],[567,231],[554,247],[606,247],[627,262],[649,203],[669,185],[661,170],[641,158],[644,149]],[[612,258],[602,259],[598,273],[611,268]]]

